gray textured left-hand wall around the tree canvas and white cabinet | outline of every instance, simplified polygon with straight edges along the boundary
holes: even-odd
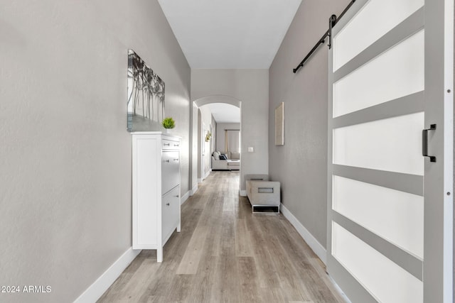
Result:
[[[3,1],[1,302],[72,302],[132,245],[127,50],[166,82],[188,190],[191,70],[157,1]]]

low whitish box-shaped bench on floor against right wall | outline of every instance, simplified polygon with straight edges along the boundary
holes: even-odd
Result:
[[[270,212],[276,209],[279,214],[281,204],[281,184],[269,181],[268,175],[245,175],[247,197],[250,200],[253,214],[263,214],[264,210]]]

